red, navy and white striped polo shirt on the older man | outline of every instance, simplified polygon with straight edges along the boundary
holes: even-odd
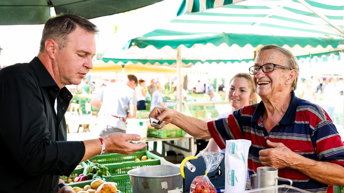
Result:
[[[293,152],[317,161],[330,161],[344,166],[344,144],[329,115],[318,105],[299,99],[292,92],[291,103],[281,121],[267,132],[263,125],[263,101],[245,106],[228,118],[208,122],[208,129],[219,148],[226,147],[226,140],[251,140],[248,153],[249,174],[262,167],[259,151],[266,149],[266,140],[283,143]],[[322,175],[319,173],[319,175]],[[310,192],[333,192],[333,186],[310,179],[291,168],[278,170],[278,176],[293,181],[293,186]],[[278,181],[278,184],[288,182]],[[327,190],[328,189],[328,190]]]

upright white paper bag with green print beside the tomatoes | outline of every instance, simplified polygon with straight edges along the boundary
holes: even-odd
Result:
[[[250,140],[226,140],[225,193],[245,191],[247,178],[247,157],[250,146]]]

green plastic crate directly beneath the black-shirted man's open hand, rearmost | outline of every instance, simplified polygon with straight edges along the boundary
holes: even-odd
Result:
[[[161,157],[152,154],[150,151],[138,151],[133,154],[124,155],[124,154],[104,154],[104,155],[98,155],[91,159],[88,159],[85,161],[86,164],[90,164],[91,162],[94,163],[100,163],[100,164],[106,164],[106,163],[121,163],[126,161],[135,161],[136,158],[141,159],[142,156],[147,156],[148,159],[154,159],[154,160],[147,160],[149,161],[155,161],[158,159],[161,159]]]

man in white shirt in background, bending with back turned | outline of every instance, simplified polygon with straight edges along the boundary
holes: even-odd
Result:
[[[125,133],[126,118],[135,118],[137,100],[134,88],[137,78],[128,75],[127,83],[114,83],[107,86],[90,103],[100,109],[97,117],[99,136],[108,136],[111,133]]]

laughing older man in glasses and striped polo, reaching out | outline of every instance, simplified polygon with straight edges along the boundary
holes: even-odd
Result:
[[[311,192],[333,192],[332,185],[344,185],[344,144],[322,107],[295,96],[299,67],[292,53],[277,45],[262,46],[249,72],[262,101],[228,118],[206,123],[162,108],[149,117],[195,137],[214,138],[221,149],[229,139],[251,140],[250,174],[261,166],[275,167],[279,177]]]

